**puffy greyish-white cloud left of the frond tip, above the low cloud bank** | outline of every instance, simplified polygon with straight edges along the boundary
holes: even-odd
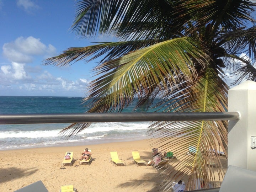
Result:
[[[31,63],[33,56],[42,55],[44,58],[56,54],[56,49],[51,44],[48,47],[40,39],[32,36],[18,37],[14,42],[5,43],[2,47],[3,54],[12,62]]]

